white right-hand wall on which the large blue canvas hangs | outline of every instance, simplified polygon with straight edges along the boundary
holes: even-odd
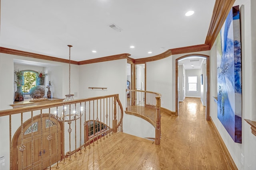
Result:
[[[236,0],[240,5],[240,28],[242,45],[242,144],[234,143],[217,117],[217,104],[210,100],[210,117],[216,125],[228,151],[239,170],[256,169],[256,137],[252,135],[250,125],[244,119],[256,121],[256,1]],[[210,96],[217,96],[216,46],[210,56]],[[240,158],[244,156],[244,165]]]

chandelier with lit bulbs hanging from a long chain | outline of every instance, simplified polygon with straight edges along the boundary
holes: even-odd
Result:
[[[74,94],[70,94],[70,48],[73,46],[68,45],[68,47],[69,47],[69,94],[65,95],[66,99],[63,100],[63,102],[74,100]],[[60,115],[58,115],[58,112],[55,114],[55,118],[58,119],[58,121],[67,121],[70,124],[71,121],[79,119],[80,115],[78,114],[76,106],[74,107],[74,104],[68,104],[63,106],[63,110],[60,113]]]

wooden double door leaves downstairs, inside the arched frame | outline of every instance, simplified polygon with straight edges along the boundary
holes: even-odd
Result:
[[[24,169],[28,170],[32,168],[33,163],[33,169],[41,169],[42,168],[42,160],[43,160],[43,169],[47,168],[51,164],[54,164],[57,162],[57,160],[61,159],[61,135],[59,135],[58,143],[57,143],[57,133],[61,134],[61,128],[60,126],[57,129],[58,121],[52,117],[50,117],[50,121],[53,123],[48,123],[48,126],[50,125],[50,133],[52,135],[52,139],[50,140],[51,148],[49,148],[49,141],[47,140],[47,137],[49,135],[49,127],[46,127],[46,120],[49,120],[49,117],[43,117],[42,118],[42,149],[41,149],[41,120],[40,118],[34,119],[33,123],[38,122],[37,131],[33,132],[33,153],[32,153],[32,133],[26,134],[23,136],[23,143],[26,146],[26,149],[23,151],[23,165],[22,165],[22,152],[20,152],[19,147],[21,146],[21,133],[18,137],[17,141],[17,168],[18,169]],[[24,132],[28,128],[30,128],[31,123],[28,123],[28,125],[24,126]],[[58,131],[57,131],[58,130]],[[59,146],[58,150],[58,158],[57,158],[57,145]],[[15,150],[14,150],[15,151]],[[50,151],[51,151],[51,162],[50,162]],[[14,152],[15,154],[15,152]],[[34,161],[32,162],[32,154]],[[16,166],[13,166],[16,167]]]

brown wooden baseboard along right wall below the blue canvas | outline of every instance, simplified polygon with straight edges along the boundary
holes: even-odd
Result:
[[[228,165],[230,166],[230,169],[232,170],[238,170],[238,168],[236,167],[236,164],[234,162],[234,160],[232,159],[230,153],[228,152],[228,149],[224,143],[224,141],[222,140],[222,137],[220,136],[220,133],[217,129],[217,127],[215,126],[214,122],[212,121],[212,117],[210,117],[210,122],[212,123],[212,128],[216,134],[216,137],[218,139],[218,142],[220,143],[220,147],[224,152],[224,156],[226,157],[226,160],[228,162]]]

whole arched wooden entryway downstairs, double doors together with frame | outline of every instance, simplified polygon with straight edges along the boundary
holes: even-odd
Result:
[[[18,128],[12,139],[13,169],[32,169],[32,166],[36,169],[41,169],[42,167],[45,169],[50,166],[50,162],[51,164],[54,164],[63,158],[61,145],[63,143],[63,134],[61,133],[63,124],[59,123],[53,116],[54,115],[51,114],[49,119],[49,114],[44,113],[42,114],[42,121],[41,115],[36,115],[33,117],[33,125],[31,125],[31,118],[23,123],[23,144],[26,146],[26,149],[23,151],[23,159],[22,152],[19,150],[22,136],[21,126]],[[49,127],[51,128],[50,133],[52,135],[50,145],[49,141],[47,140],[49,135]],[[31,135],[32,132],[33,138]]]

